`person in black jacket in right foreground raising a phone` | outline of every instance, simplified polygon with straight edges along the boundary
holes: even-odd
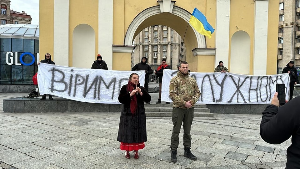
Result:
[[[271,104],[262,112],[260,136],[270,144],[280,144],[292,136],[292,145],[287,148],[286,169],[300,169],[300,97],[279,107],[276,92]]]

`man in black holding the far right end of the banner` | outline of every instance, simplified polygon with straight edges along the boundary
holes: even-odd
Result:
[[[290,76],[290,100],[293,99],[294,86],[298,83],[297,69],[294,66],[294,61],[291,60],[282,70],[282,73],[288,73]]]

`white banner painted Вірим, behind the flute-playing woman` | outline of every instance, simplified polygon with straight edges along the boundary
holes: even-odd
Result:
[[[89,103],[120,104],[118,96],[129,76],[137,73],[144,86],[145,71],[83,69],[40,63],[37,83],[41,95],[51,94]]]

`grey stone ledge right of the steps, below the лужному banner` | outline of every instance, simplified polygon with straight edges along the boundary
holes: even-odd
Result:
[[[252,105],[206,105],[211,113],[221,114],[257,114],[261,115],[269,104]]]

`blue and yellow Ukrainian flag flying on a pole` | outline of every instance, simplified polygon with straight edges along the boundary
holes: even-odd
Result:
[[[196,29],[197,32],[209,38],[212,37],[212,33],[215,31],[215,29],[207,22],[203,13],[201,13],[197,8],[194,9],[189,23]]]

